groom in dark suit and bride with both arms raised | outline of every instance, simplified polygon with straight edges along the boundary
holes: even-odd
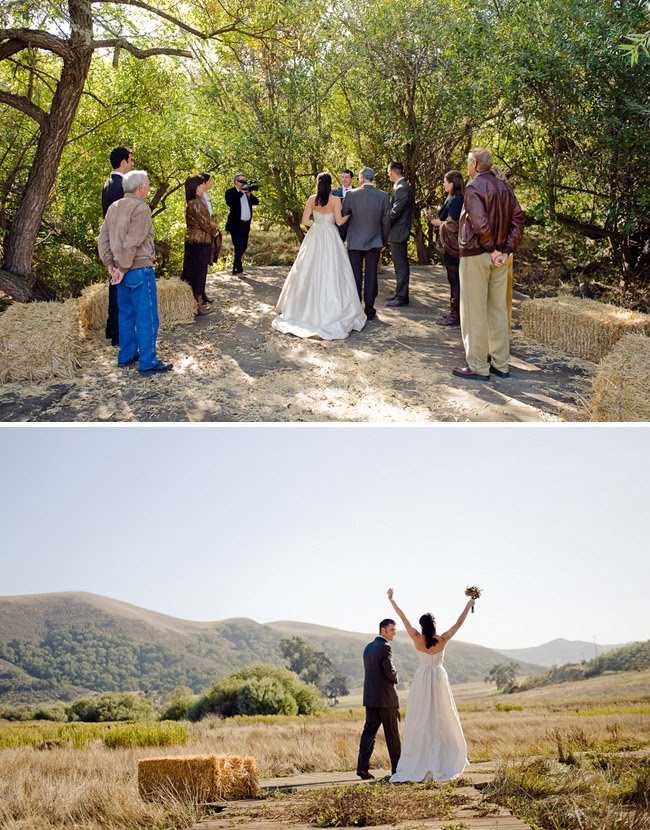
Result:
[[[382,620],[379,636],[363,652],[366,722],[359,745],[357,775],[364,779],[374,777],[369,771],[370,757],[375,736],[383,726],[393,773],[391,783],[449,781],[462,774],[468,760],[467,743],[442,661],[445,646],[465,622],[475,601],[467,602],[448,631],[436,634],[436,621],[430,613],[420,617],[418,631],[393,599],[392,588],[388,591],[388,599],[413,641],[419,665],[409,690],[402,744],[399,700],[395,691],[397,670],[390,646],[396,626],[394,620]]]

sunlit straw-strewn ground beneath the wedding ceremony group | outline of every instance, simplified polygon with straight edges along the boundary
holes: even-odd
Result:
[[[444,269],[413,267],[411,304],[385,308],[394,288],[380,275],[377,319],[347,340],[302,340],[271,328],[288,266],[241,279],[208,277],[214,313],[162,331],[159,356],[173,372],[120,368],[102,335],[84,343],[79,376],[5,384],[1,421],[39,422],[549,422],[589,419],[595,365],[551,354],[521,337],[515,295],[511,377],[465,381],[460,329],[435,320],[448,308]]]

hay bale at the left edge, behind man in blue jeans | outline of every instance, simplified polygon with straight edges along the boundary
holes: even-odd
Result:
[[[13,303],[0,315],[0,382],[74,377],[79,303]]]

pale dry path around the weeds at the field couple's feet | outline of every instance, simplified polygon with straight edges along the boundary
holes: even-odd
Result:
[[[375,771],[377,778],[389,775],[389,770]],[[493,778],[494,765],[490,763],[471,764],[463,773],[461,786],[454,792],[462,797],[463,804],[454,810],[454,815],[446,819],[412,819],[391,825],[377,825],[373,830],[531,830],[530,825],[512,815],[507,809],[495,804],[486,803],[481,795],[481,789]],[[326,772],[304,773],[285,778],[264,779],[261,782],[262,792],[274,789],[302,790],[324,789],[333,786],[348,786],[361,783],[353,772]],[[379,784],[379,786],[384,786]],[[286,805],[291,795],[282,799]],[[267,802],[268,803],[268,802]],[[288,827],[291,830],[313,830],[305,824],[293,824],[281,815],[264,816],[259,805],[264,804],[259,799],[228,802],[218,817],[204,819],[194,825],[191,830],[227,830],[237,827],[238,830],[278,830]]]

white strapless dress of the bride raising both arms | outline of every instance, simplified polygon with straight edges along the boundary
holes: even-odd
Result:
[[[467,764],[467,743],[438,654],[418,651],[419,666],[406,702],[402,754],[392,782],[449,781]]]

